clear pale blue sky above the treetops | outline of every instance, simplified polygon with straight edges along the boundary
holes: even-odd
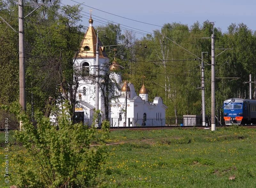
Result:
[[[215,22],[215,27],[221,29],[222,32],[227,31],[227,27],[231,23],[244,23],[249,29],[256,30],[256,1],[255,0],[75,0],[79,3],[91,6],[102,11],[110,12],[122,17],[146,22],[154,25],[164,25],[164,23],[178,22],[191,26],[196,21],[202,24],[205,20]],[[63,4],[76,4],[71,0],[62,0]],[[62,4],[62,5],[63,5]],[[83,6],[83,11],[90,13],[90,7]],[[108,13],[98,11],[92,8],[92,15],[131,26],[140,30],[152,32],[160,29],[158,26],[142,24],[139,22],[120,18]],[[83,13],[88,16],[88,14]],[[86,17],[86,16],[84,16]],[[88,18],[82,18],[83,24],[88,26]],[[104,25],[94,20],[93,25]],[[122,26],[125,27],[125,26]],[[123,29],[122,29],[123,30]],[[132,29],[134,30],[134,29]],[[142,35],[136,34],[138,38]]]

